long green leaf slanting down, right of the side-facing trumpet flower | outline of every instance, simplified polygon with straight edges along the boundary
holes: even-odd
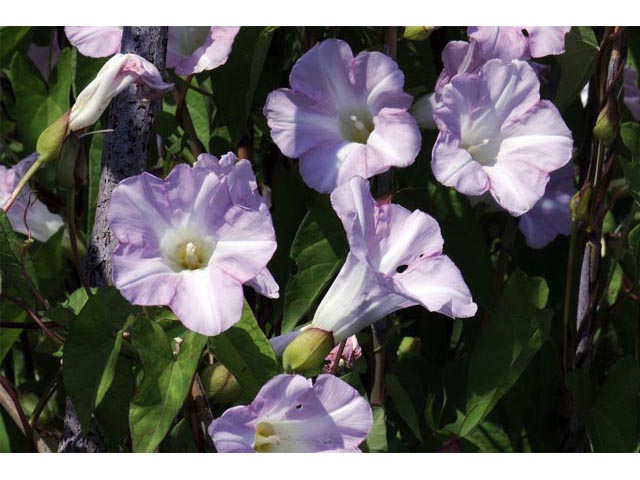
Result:
[[[461,436],[486,418],[546,341],[553,315],[551,310],[542,310],[548,296],[542,278],[528,277],[519,270],[509,278],[471,353]]]

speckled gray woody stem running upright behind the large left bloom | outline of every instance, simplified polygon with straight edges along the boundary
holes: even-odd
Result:
[[[125,27],[122,35],[122,53],[135,53],[164,70],[167,51],[167,27]],[[108,133],[102,150],[102,171],[91,244],[85,261],[89,284],[102,287],[112,284],[112,254],[116,240],[107,226],[107,207],[114,187],[127,177],[145,170],[151,127],[160,101],[142,100],[135,86],[118,95],[111,104]],[[104,452],[105,441],[95,422],[86,437],[82,436],[80,421],[69,397],[59,452]]]

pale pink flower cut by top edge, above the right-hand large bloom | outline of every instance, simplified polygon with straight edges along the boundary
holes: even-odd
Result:
[[[504,61],[559,55],[571,27],[469,27],[469,38],[478,43],[484,60]]]

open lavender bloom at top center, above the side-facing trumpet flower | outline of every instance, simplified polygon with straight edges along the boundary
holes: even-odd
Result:
[[[300,159],[311,188],[331,192],[354,176],[365,178],[413,163],[420,131],[407,112],[404,75],[380,52],[355,58],[342,40],[325,40],[305,53],[289,76],[291,89],[271,92],[264,107],[273,141]]]

